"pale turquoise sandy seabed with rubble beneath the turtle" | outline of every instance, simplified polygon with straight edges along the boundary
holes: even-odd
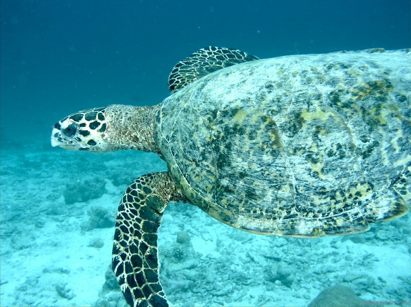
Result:
[[[109,270],[121,196],[165,170],[154,154],[1,150],[2,306],[126,305]],[[304,306],[335,284],[361,299],[411,298],[411,215],[362,234],[268,237],[170,204],[159,229],[160,281],[175,306]]]

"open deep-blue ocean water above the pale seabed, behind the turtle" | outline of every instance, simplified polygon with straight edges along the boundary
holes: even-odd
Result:
[[[157,104],[171,68],[205,46],[264,58],[411,45],[409,0],[3,0],[1,8],[4,140],[46,140],[52,122],[81,108]]]

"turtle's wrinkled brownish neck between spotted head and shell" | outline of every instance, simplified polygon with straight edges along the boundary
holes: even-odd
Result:
[[[111,150],[136,149],[160,154],[154,139],[155,106],[110,105],[105,110],[107,142]]]

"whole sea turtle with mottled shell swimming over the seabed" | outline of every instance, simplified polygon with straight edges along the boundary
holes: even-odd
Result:
[[[155,106],[73,113],[51,143],[157,152],[168,171],[137,178],[116,217],[113,270],[130,306],[166,306],[157,230],[170,201],[244,231],[352,234],[408,211],[411,50],[259,60],[200,49]]]

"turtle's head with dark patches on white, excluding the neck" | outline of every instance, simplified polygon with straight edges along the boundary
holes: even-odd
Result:
[[[111,151],[107,146],[106,108],[82,110],[55,123],[51,145],[69,150]]]

